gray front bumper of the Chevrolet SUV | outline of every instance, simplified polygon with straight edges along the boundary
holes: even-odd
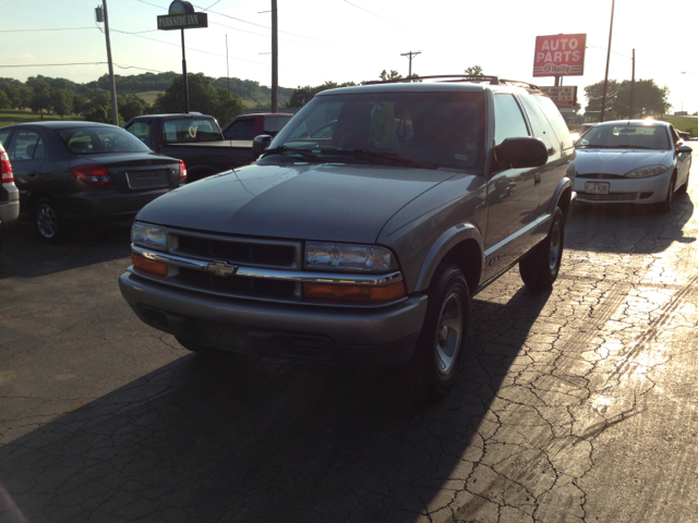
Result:
[[[219,349],[264,356],[378,366],[411,360],[426,296],[385,307],[335,307],[215,296],[124,272],[119,288],[156,329]]]

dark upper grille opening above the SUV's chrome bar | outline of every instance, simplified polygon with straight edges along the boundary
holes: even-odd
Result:
[[[300,265],[300,243],[193,235],[177,231],[170,231],[170,235],[177,238],[172,254],[284,269],[299,268]]]

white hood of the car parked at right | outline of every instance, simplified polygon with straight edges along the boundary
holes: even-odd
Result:
[[[577,172],[623,175],[646,166],[671,166],[671,150],[577,149]]]

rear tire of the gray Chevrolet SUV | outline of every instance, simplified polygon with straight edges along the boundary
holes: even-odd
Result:
[[[519,272],[526,287],[542,291],[553,287],[559,273],[565,244],[565,215],[559,207],[553,212],[553,223],[545,240],[535,245],[519,262]]]

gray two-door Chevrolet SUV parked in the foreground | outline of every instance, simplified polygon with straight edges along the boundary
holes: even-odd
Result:
[[[407,364],[448,392],[473,294],[517,263],[555,281],[576,156],[535,86],[423,80],[321,93],[255,163],[145,206],[137,316],[196,352]]]

